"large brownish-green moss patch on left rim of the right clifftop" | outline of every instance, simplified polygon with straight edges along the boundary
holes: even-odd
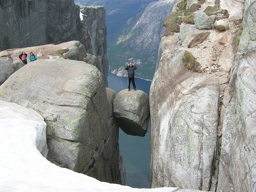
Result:
[[[182,23],[183,14],[180,12],[174,12],[164,20],[164,36],[173,35],[173,33],[180,32],[180,23]]]

